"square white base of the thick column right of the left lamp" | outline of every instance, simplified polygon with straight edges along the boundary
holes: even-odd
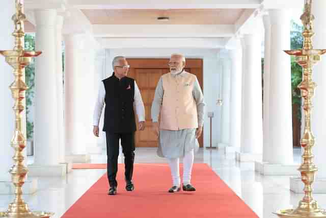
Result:
[[[62,176],[65,177],[67,174],[66,164],[56,165],[28,165],[29,176]]]

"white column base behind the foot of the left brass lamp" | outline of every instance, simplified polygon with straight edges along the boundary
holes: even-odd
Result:
[[[22,186],[22,191],[24,195],[33,195],[37,191],[38,180],[28,179]],[[15,186],[9,179],[0,180],[0,195],[14,195]]]

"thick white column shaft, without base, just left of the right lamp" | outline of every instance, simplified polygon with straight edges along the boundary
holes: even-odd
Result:
[[[270,10],[269,163],[293,163],[291,61],[288,10]]]

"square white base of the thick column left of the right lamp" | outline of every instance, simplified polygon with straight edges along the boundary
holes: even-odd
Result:
[[[299,176],[299,166],[300,164],[269,164],[256,161],[255,171],[264,176]]]

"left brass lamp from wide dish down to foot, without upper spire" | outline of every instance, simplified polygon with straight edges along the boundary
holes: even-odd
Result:
[[[6,62],[14,68],[15,81],[11,84],[10,89],[12,91],[15,105],[13,107],[16,114],[16,125],[14,137],[11,140],[11,147],[15,150],[13,157],[14,165],[10,168],[9,173],[11,174],[13,184],[15,186],[15,200],[8,207],[8,211],[0,212],[0,217],[15,217],[15,218],[48,218],[54,213],[29,210],[28,205],[22,199],[22,185],[25,182],[25,176],[28,173],[22,161],[24,156],[22,154],[23,149],[26,147],[26,141],[23,136],[23,130],[21,125],[21,112],[25,106],[22,103],[24,99],[24,91],[28,89],[26,84],[23,82],[23,68],[28,66],[32,61],[33,57],[37,57],[41,52],[27,52],[23,50],[18,51],[0,51],[0,54],[5,56]]]

